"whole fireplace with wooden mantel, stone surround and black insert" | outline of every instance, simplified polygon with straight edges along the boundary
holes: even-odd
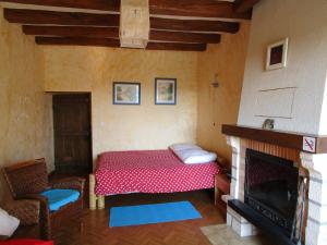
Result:
[[[259,231],[276,244],[326,245],[327,136],[239,125],[223,125],[222,133],[232,149],[227,224],[242,237]],[[287,174],[270,174],[270,167]],[[249,176],[253,168],[268,175]]]

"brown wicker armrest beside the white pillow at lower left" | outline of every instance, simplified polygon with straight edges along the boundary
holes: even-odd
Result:
[[[14,200],[4,206],[9,215],[16,217],[22,225],[37,224],[39,221],[39,201],[32,199]]]

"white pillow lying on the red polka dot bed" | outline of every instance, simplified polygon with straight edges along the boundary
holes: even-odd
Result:
[[[217,155],[203,149],[183,149],[173,151],[184,163],[208,163],[217,159]]]

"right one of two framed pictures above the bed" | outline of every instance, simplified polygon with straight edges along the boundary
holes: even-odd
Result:
[[[156,78],[155,79],[155,103],[175,105],[177,103],[177,79]]]

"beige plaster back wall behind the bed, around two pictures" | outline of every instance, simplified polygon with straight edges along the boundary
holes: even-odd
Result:
[[[90,91],[94,159],[107,150],[196,140],[197,53],[44,47],[47,91]],[[155,106],[155,77],[178,79],[178,105]],[[140,82],[141,106],[113,106],[112,82]]]

